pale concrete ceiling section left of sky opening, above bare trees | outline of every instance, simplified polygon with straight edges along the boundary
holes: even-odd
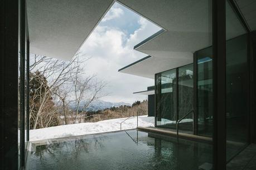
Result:
[[[30,52],[71,59],[113,0],[27,0]]]

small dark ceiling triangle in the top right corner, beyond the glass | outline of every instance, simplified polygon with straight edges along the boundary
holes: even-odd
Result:
[[[256,31],[256,1],[255,0],[235,0],[240,8],[245,21],[252,31]]]

